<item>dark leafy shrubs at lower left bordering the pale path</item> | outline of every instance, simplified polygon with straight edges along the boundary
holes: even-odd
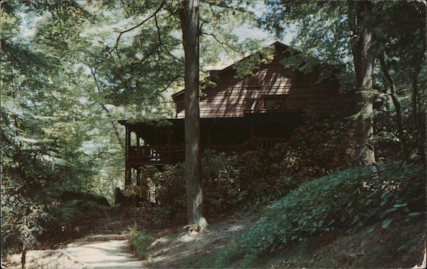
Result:
[[[2,208],[2,255],[21,251],[23,246],[39,247],[41,242],[59,238],[77,225],[88,225],[93,218],[105,216],[106,200],[102,197],[85,193],[73,193],[69,199],[65,196],[44,204],[23,196],[10,196],[13,207]]]

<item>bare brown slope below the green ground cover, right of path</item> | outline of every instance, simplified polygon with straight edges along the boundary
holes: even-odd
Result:
[[[333,231],[280,252],[224,261],[221,250],[258,218],[259,212],[238,213],[211,223],[206,233],[160,233],[148,246],[144,265],[149,268],[412,268],[423,261],[425,216],[413,221],[396,218],[387,229],[378,222],[364,228]]]

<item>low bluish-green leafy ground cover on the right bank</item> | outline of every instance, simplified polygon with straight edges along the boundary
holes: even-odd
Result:
[[[410,221],[411,211],[423,210],[425,184],[422,165],[395,162],[379,165],[378,181],[370,169],[355,167],[307,182],[268,206],[255,226],[227,250],[228,258],[258,256],[372,221],[384,220],[387,228],[396,214]]]

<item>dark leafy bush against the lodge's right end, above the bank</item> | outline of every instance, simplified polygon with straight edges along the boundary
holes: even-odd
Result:
[[[354,162],[354,122],[307,117],[307,125],[298,127],[286,144],[273,151],[270,159],[283,159],[281,166],[297,179],[315,178],[332,169]],[[273,172],[274,173],[274,172]]]

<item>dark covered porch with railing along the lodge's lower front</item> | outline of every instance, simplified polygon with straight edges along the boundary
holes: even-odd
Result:
[[[246,114],[244,117],[204,117],[201,148],[218,152],[268,150],[285,142],[302,124],[302,112]],[[143,169],[147,164],[162,166],[184,162],[184,119],[136,122],[120,120],[126,129],[125,188],[147,189]],[[116,190],[115,204],[135,206],[144,197],[125,197]],[[147,201],[149,194],[147,194]]]

